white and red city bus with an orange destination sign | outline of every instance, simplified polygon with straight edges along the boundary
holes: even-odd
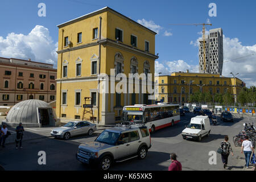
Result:
[[[140,123],[147,126],[153,133],[167,126],[180,122],[178,104],[158,103],[157,105],[142,105],[123,107],[122,121],[124,123]]]

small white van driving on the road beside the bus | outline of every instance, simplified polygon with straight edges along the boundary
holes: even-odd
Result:
[[[210,135],[210,120],[208,116],[197,115],[191,118],[189,125],[182,131],[183,139],[195,139],[199,142]]]

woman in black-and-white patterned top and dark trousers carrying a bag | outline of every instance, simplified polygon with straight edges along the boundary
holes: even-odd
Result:
[[[228,142],[228,140],[229,140],[229,137],[225,136],[224,141],[222,141],[221,145],[220,145],[220,147],[222,149],[221,160],[222,160],[224,169],[228,165],[228,158],[229,158],[230,152],[231,152],[232,156],[234,156],[231,144]]]

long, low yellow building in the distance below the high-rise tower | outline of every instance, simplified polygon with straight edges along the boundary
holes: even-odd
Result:
[[[209,92],[213,100],[216,93],[238,94],[244,85],[239,78],[223,77],[219,74],[174,72],[171,75],[155,77],[158,85],[156,100],[184,104],[189,101],[190,94],[197,91]],[[234,85],[235,84],[235,85]],[[236,88],[236,89],[235,89]]]

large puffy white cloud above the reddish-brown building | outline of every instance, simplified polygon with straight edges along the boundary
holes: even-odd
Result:
[[[36,25],[28,35],[11,32],[0,36],[0,56],[28,59],[43,63],[57,64],[57,43],[54,43],[49,30]]]

